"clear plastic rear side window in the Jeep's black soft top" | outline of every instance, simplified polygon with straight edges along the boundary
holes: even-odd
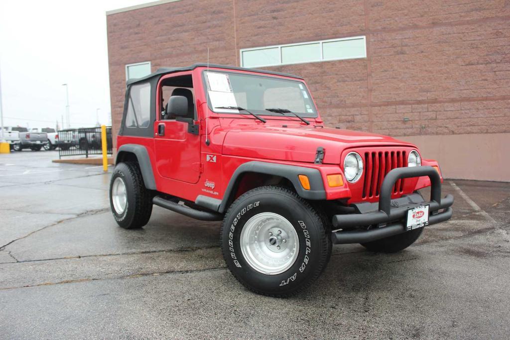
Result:
[[[127,102],[126,127],[148,127],[150,123],[150,83],[132,85]]]

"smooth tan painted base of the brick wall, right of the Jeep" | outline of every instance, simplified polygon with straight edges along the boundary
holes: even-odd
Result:
[[[403,136],[424,159],[439,161],[445,178],[510,181],[510,134]]]

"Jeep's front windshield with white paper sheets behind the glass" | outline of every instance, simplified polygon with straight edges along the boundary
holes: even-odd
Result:
[[[217,113],[245,112],[219,107],[240,107],[259,115],[282,116],[266,109],[286,109],[303,117],[317,117],[310,93],[302,82],[271,76],[205,71],[209,108]]]

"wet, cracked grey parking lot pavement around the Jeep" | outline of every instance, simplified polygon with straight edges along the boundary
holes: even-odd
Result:
[[[446,180],[454,217],[398,254],[334,246],[290,299],[225,269],[219,222],[110,213],[109,173],[0,155],[0,338],[508,338],[510,184]]]

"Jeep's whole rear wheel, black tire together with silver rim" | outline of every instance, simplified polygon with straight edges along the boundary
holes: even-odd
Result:
[[[145,188],[138,163],[119,163],[110,180],[110,207],[124,229],[141,228],[152,213],[152,194]]]

